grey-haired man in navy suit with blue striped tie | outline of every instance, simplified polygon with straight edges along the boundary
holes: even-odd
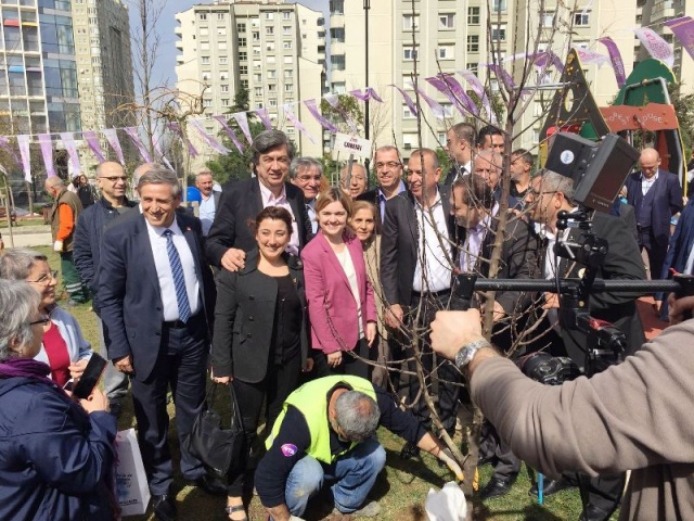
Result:
[[[138,440],[156,517],[175,520],[174,466],[167,434],[170,386],[181,449],[181,473],[215,494],[209,478],[183,447],[205,398],[215,285],[202,251],[202,227],[177,213],[176,174],[155,167],[138,185],[142,214],[120,219],[103,234],[98,292],[108,358],[131,376]]]

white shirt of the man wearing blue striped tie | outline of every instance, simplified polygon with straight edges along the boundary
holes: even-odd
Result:
[[[174,275],[171,274],[171,265],[169,255],[166,253],[166,237],[164,232],[167,228],[162,226],[152,226],[144,219],[147,225],[147,233],[150,236],[150,245],[154,255],[154,266],[159,281],[162,291],[162,304],[164,305],[164,321],[170,322],[178,320],[178,302],[176,301],[176,287],[174,285]],[[181,257],[181,267],[183,268],[183,277],[185,279],[185,292],[188,293],[188,302],[191,306],[191,317],[197,315],[200,310],[200,284],[195,275],[195,260],[193,252],[191,252],[188,241],[178,226],[176,219],[168,227],[174,232],[171,240]]]

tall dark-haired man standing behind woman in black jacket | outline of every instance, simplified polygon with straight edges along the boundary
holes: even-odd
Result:
[[[292,214],[291,253],[298,254],[311,234],[304,193],[287,182],[294,157],[292,141],[281,130],[266,130],[255,138],[252,149],[256,177],[234,182],[222,192],[205,241],[208,260],[230,271],[241,269],[246,252],[256,246],[248,223],[266,206],[281,206]]]

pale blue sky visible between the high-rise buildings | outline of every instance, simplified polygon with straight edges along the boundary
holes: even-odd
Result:
[[[130,27],[139,25],[139,5],[140,0],[123,0],[128,7],[130,12]],[[164,4],[164,11],[156,26],[157,33],[160,37],[159,54],[156,58],[156,64],[153,74],[152,85],[168,85],[174,87],[176,84],[176,35],[174,29],[176,28],[176,13],[185,11],[193,5],[214,3],[205,0],[149,0],[153,3]],[[290,2],[296,3],[296,2]],[[299,3],[319,11],[323,11],[327,22],[329,0],[301,0]],[[132,49],[133,53],[136,49]],[[137,63],[137,62],[136,62]]]

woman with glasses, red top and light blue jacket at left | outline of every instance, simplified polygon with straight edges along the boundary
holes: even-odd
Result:
[[[33,250],[10,250],[0,257],[0,278],[26,281],[39,294],[39,313],[50,320],[43,325],[43,343],[36,359],[49,365],[51,379],[63,386],[79,378],[91,357],[91,345],[75,317],[57,305],[56,272],[48,257]]]

